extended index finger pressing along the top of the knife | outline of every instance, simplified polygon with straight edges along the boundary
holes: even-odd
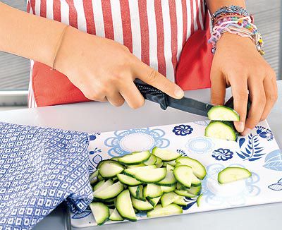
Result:
[[[136,78],[156,87],[171,97],[180,99],[184,96],[183,90],[178,85],[171,82],[171,80],[168,80],[164,75],[161,75],[161,73],[147,66],[142,61],[135,61],[133,71]]]

